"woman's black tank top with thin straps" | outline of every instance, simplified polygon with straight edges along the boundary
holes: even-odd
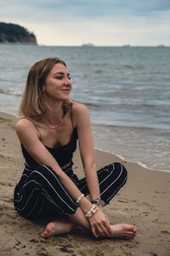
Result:
[[[72,160],[73,153],[77,148],[77,129],[76,128],[73,129],[70,143],[60,148],[48,148],[47,146],[45,147],[48,149],[49,153],[54,156],[54,159],[58,162],[59,166],[67,165]],[[31,154],[29,154],[26,151],[26,148],[24,148],[22,144],[21,144],[21,148],[22,148],[22,154],[26,160],[26,163],[32,167],[39,166],[37,161],[34,160],[33,157],[31,157]]]

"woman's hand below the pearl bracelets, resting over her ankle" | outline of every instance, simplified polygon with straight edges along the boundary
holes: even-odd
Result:
[[[98,239],[99,237],[111,237],[111,224],[109,218],[102,210],[99,209],[90,218],[89,224],[93,235]]]

